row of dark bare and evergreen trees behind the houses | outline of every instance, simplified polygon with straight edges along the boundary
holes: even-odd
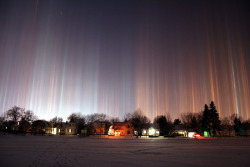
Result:
[[[17,122],[24,125],[32,123],[35,120],[38,120],[38,117],[35,116],[32,111],[26,111],[24,108],[14,106],[0,117],[0,130],[6,130],[5,127],[10,127]],[[81,133],[82,129],[92,129],[96,122],[105,123],[106,131],[108,131],[110,125],[120,121],[130,121],[134,130],[139,133],[151,125],[150,119],[144,115],[140,109],[137,109],[133,113],[126,114],[122,120],[119,118],[110,118],[106,114],[99,113],[90,115],[72,113],[67,118],[67,122],[76,123],[77,133]],[[63,122],[63,119],[61,117],[54,117],[49,120],[49,122],[57,126]],[[242,119],[235,114],[230,117],[224,117],[221,120],[214,102],[211,101],[210,105],[205,104],[204,110],[199,113],[183,113],[180,115],[180,118],[174,119],[174,121],[172,121],[169,114],[159,115],[154,118],[153,123],[159,126],[160,135],[162,136],[170,136],[176,127],[192,130],[200,134],[206,131],[211,136],[216,136],[221,130],[234,130],[236,135],[240,135],[242,130],[249,127],[250,122],[242,121]]]

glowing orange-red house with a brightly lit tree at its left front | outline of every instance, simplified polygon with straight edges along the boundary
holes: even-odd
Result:
[[[114,122],[110,126],[108,135],[111,136],[133,136],[133,125],[131,122]]]

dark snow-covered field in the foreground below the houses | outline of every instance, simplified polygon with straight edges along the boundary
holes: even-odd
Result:
[[[250,166],[250,138],[1,135],[0,166]]]

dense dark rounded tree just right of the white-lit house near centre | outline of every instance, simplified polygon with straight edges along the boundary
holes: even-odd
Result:
[[[169,135],[169,132],[172,127],[172,122],[169,114],[167,114],[167,116],[160,115],[155,117],[154,123],[157,123],[159,125],[161,136]]]

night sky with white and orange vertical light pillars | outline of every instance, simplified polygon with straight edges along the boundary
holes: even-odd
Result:
[[[250,3],[0,1],[0,113],[250,118]]]

